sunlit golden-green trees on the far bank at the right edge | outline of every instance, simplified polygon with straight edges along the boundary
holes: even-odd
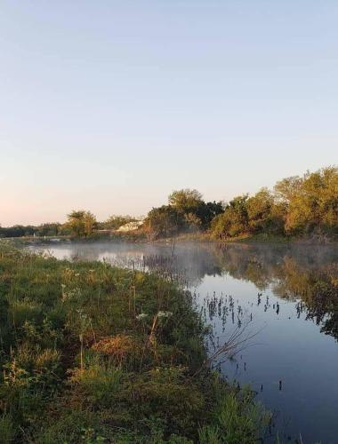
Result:
[[[280,180],[271,192],[235,197],[213,219],[215,237],[241,234],[337,234],[338,169],[327,167]]]

